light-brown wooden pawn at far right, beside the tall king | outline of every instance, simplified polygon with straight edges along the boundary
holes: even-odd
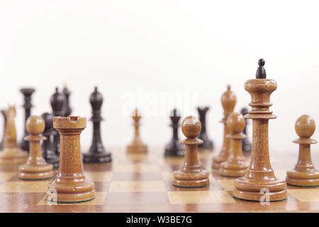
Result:
[[[317,143],[310,138],[315,132],[315,121],[304,114],[297,119],[295,130],[300,137],[293,140],[293,143],[299,144],[299,157],[295,168],[287,171],[286,182],[299,187],[318,187],[319,171],[315,169],[310,155],[310,144]]]

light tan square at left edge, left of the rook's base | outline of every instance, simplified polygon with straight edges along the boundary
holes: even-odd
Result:
[[[52,180],[44,181],[16,181],[5,182],[0,185],[0,192],[47,192],[47,184]]]

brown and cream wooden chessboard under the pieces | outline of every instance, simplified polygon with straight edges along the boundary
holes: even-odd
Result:
[[[211,170],[211,157],[219,150],[201,150],[199,157]],[[288,199],[262,205],[234,199],[234,178],[220,177],[211,171],[210,187],[185,189],[172,186],[172,173],[179,170],[183,158],[164,158],[163,150],[151,148],[148,155],[127,155],[113,149],[113,162],[86,164],[86,177],[95,182],[96,199],[79,204],[49,205],[44,196],[52,180],[20,180],[16,172],[0,172],[0,212],[289,212],[319,211],[319,188],[288,186]],[[247,154],[246,154],[247,155]],[[298,150],[271,152],[276,176],[296,164]],[[249,157],[247,156],[247,159]],[[319,155],[313,152],[318,165]]]

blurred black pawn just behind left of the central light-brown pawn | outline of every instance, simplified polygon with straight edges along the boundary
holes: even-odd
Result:
[[[173,138],[166,145],[164,156],[184,156],[184,145],[179,143],[179,119],[181,116],[177,112],[177,109],[173,109],[170,118],[172,121],[170,126],[173,128]]]

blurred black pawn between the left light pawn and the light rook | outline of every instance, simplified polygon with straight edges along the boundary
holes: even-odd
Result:
[[[42,155],[45,161],[53,165],[54,169],[59,167],[59,156],[52,150],[52,135],[53,131],[53,115],[49,113],[42,114],[43,121],[45,121],[45,130],[42,135],[47,138],[43,140],[42,144]]]

